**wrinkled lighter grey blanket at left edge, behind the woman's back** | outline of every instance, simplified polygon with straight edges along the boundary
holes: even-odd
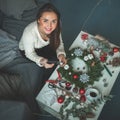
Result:
[[[0,68],[21,56],[18,41],[9,33],[0,29]]]

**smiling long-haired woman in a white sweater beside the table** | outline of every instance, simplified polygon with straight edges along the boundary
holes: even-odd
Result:
[[[55,56],[53,52],[56,51],[58,60],[64,66],[67,61],[60,32],[58,10],[50,3],[44,4],[38,12],[37,20],[25,28],[19,48],[29,60],[45,68],[53,68],[54,63],[48,61]]]

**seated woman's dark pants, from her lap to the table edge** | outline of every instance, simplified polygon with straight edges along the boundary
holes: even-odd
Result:
[[[57,59],[55,51],[53,51],[49,46],[37,49],[36,52],[38,55],[49,60]],[[14,61],[5,66],[3,70],[9,73],[19,74],[25,81],[26,86],[36,96],[44,85],[45,80],[50,77],[56,66],[50,69],[45,69],[44,67],[39,67],[36,63],[27,59],[23,52],[22,55],[23,57],[16,58]]]

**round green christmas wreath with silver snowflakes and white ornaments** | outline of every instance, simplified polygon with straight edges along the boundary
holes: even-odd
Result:
[[[80,47],[73,48],[67,52],[68,62],[64,67],[59,67],[58,72],[62,79],[80,88],[93,85],[102,76],[100,60],[88,50],[82,50]]]

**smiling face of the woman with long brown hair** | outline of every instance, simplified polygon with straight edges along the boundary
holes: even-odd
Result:
[[[54,12],[44,12],[38,19],[38,29],[42,34],[49,35],[58,24],[57,15]]]

